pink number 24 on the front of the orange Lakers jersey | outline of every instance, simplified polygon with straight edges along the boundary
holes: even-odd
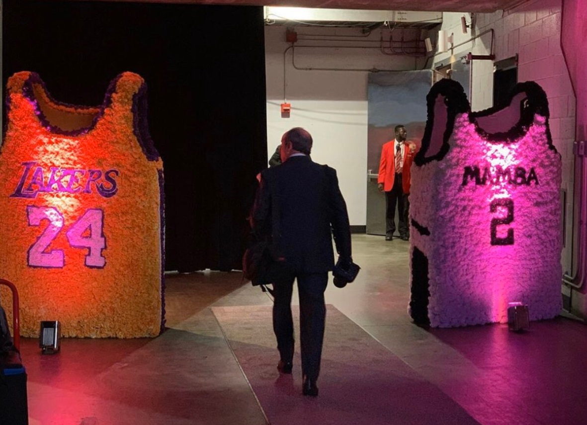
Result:
[[[41,225],[43,220],[49,224],[29,248],[26,262],[31,267],[62,268],[65,266],[65,255],[61,249],[52,249],[45,252],[51,242],[55,240],[63,228],[63,215],[55,207],[26,207],[26,217],[29,226]],[[73,248],[88,248],[86,255],[86,267],[103,268],[106,258],[102,256],[102,250],[106,248],[106,238],[103,233],[104,212],[97,209],[89,209],[66,232],[69,245]],[[84,236],[89,230],[89,236]]]

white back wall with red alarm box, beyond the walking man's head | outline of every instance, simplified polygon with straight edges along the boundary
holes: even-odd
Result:
[[[298,126],[310,131],[314,140],[312,159],[336,168],[350,224],[366,225],[367,75],[373,68],[413,70],[416,58],[381,53],[378,41],[382,33],[384,37],[389,35],[387,29],[367,37],[359,29],[294,30],[298,32],[295,66],[328,70],[295,69],[289,49],[285,55],[284,96],[284,52],[291,44],[285,41],[285,27],[265,27],[268,156],[274,153],[285,131]],[[332,41],[312,41],[318,38],[314,35],[328,35]],[[299,47],[302,45],[326,47]],[[350,47],[359,45],[376,48]],[[284,98],[291,103],[289,118],[281,117]]]

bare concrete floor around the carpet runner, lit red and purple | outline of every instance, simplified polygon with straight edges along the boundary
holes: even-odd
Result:
[[[406,309],[409,242],[353,235],[353,257],[362,267],[357,281],[343,289],[329,285],[326,302],[475,420],[587,423],[585,325],[556,318],[533,322],[525,333],[499,324],[422,329]],[[267,423],[210,308],[271,305],[269,296],[242,282],[239,272],[166,279],[169,329],[156,339],[63,339],[52,356],[41,355],[37,340],[23,339],[29,423]]]

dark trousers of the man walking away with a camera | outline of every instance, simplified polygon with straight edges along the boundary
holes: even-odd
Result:
[[[324,291],[328,273],[294,274],[276,279],[274,286],[273,330],[281,360],[294,357],[294,321],[291,299],[294,279],[298,279],[299,328],[302,354],[302,375],[317,379],[320,373],[322,342],[326,321]]]

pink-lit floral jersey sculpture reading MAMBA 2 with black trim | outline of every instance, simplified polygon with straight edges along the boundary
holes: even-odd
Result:
[[[411,301],[434,327],[507,322],[508,302],[531,320],[561,308],[561,157],[548,102],[518,84],[509,106],[471,113],[457,82],[427,96],[412,168]]]

